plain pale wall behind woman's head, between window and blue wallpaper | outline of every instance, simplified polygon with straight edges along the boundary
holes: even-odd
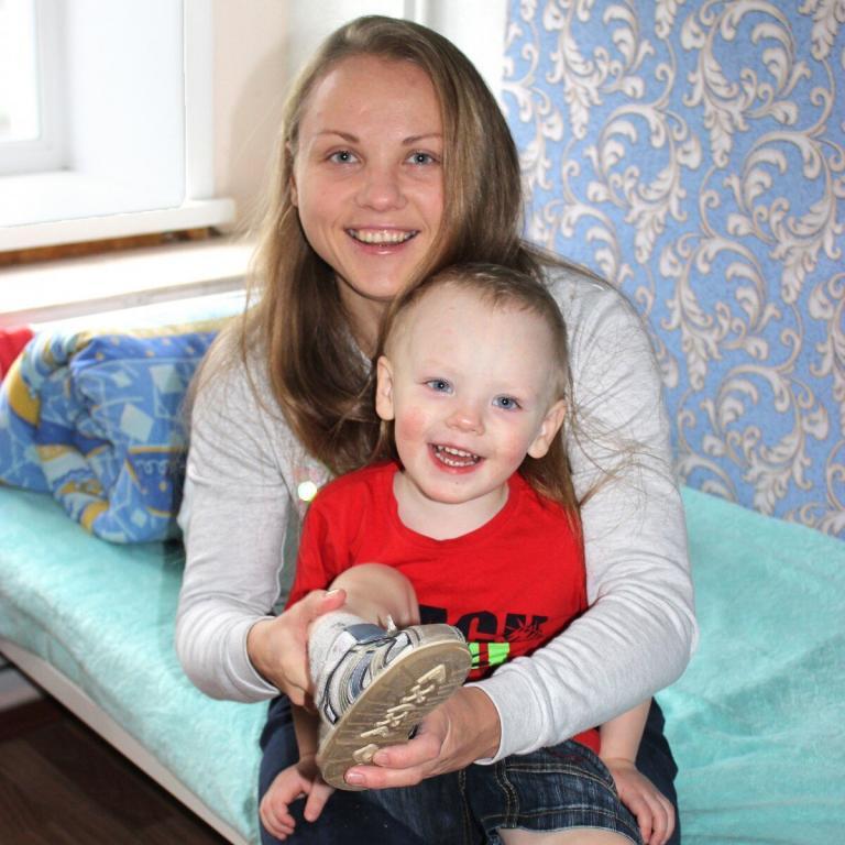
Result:
[[[213,13],[215,180],[218,195],[237,200],[241,226],[257,207],[290,81],[345,21],[387,14],[431,26],[498,90],[505,0],[215,0]]]

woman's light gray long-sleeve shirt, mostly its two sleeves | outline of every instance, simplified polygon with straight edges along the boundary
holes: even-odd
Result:
[[[648,699],[681,674],[696,637],[648,337],[605,285],[561,270],[551,289],[569,331],[581,420],[566,432],[575,492],[603,480],[581,509],[591,606],[531,657],[479,682],[501,718],[495,759],[562,742]],[[211,354],[237,359],[226,344]],[[246,634],[284,601],[309,482],[328,475],[290,432],[261,362],[249,375],[238,360],[211,372],[191,418],[176,647],[207,694],[260,701],[278,690],[251,665]]]

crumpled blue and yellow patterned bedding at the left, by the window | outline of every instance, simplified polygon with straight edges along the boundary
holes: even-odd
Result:
[[[0,391],[0,481],[103,539],[176,536],[184,399],[221,325],[37,334]]]

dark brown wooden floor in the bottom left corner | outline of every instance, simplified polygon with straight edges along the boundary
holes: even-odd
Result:
[[[0,712],[2,845],[224,845],[52,701]]]

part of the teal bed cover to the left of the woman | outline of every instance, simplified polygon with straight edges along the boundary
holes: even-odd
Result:
[[[255,838],[266,704],[215,701],[174,647],[176,544],[117,546],[48,495],[0,489],[0,636],[44,658],[220,819]]]

